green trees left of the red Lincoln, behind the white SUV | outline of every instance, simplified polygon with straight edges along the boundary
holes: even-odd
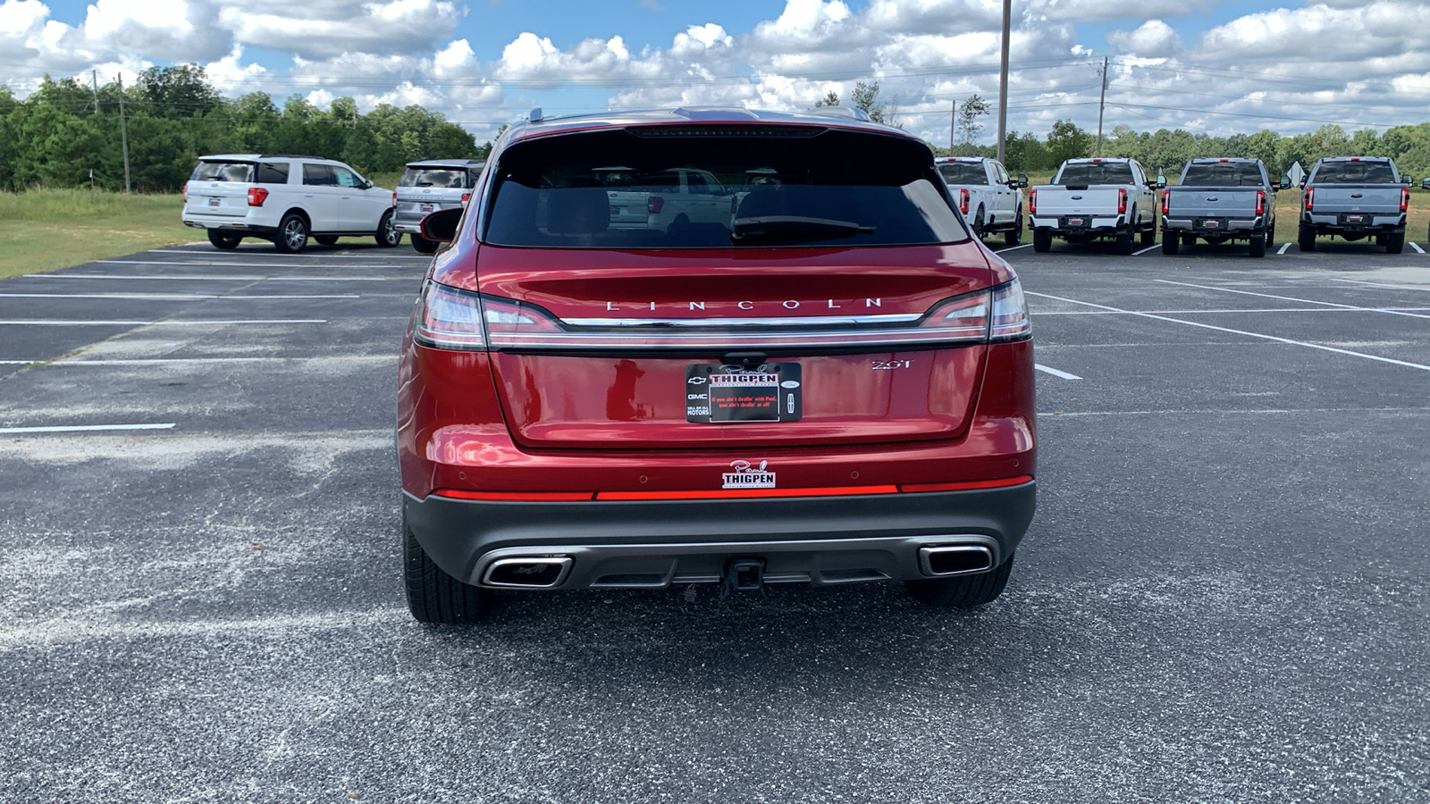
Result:
[[[382,104],[360,114],[352,97],[326,110],[300,94],[282,107],[262,92],[226,99],[203,67],[180,64],[150,67],[123,87],[46,76],[24,100],[0,84],[0,189],[124,189],[122,104],[140,192],[177,190],[210,153],[300,153],[373,173],[416,159],[480,157],[489,149],[422,106]]]

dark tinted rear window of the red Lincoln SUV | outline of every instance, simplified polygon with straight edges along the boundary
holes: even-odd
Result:
[[[511,146],[496,166],[483,240],[679,249],[968,239],[928,146],[918,142],[818,127],[638,132]]]

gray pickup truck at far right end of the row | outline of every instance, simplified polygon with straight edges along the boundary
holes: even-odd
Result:
[[[1406,249],[1410,185],[1390,157],[1327,156],[1301,186],[1306,196],[1296,240],[1303,252],[1316,250],[1317,235],[1374,237],[1393,255]]]

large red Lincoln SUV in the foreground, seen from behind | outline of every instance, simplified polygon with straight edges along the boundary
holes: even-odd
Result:
[[[699,213],[664,215],[676,192]],[[418,619],[472,621],[490,589],[1002,591],[1034,511],[1028,312],[922,140],[533,112],[423,232],[449,245],[399,375]]]

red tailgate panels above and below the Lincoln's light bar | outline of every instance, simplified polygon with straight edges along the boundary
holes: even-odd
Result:
[[[493,339],[516,442],[828,446],[967,429],[987,348],[889,338],[940,302],[988,288],[977,246],[706,255],[682,255],[689,265],[672,273],[668,252],[585,252],[581,268],[558,268],[571,252],[483,247],[482,293],[539,305],[562,326],[616,333]],[[631,333],[644,340],[623,343]]]

